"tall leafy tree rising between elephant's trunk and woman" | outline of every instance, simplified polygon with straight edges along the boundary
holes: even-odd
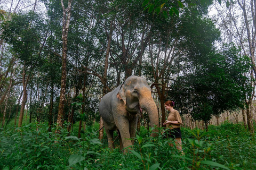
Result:
[[[179,7],[178,2],[175,6]],[[174,99],[169,97],[168,92],[171,81],[183,72],[190,71],[187,67],[181,69],[184,63],[197,64],[207,60],[214,41],[219,38],[215,25],[203,16],[207,5],[185,6],[180,9],[182,13],[179,17],[172,15],[166,19],[164,16],[155,16],[149,30],[149,74],[153,73],[152,87],[156,88],[161,105],[162,124],[166,119],[165,100]]]

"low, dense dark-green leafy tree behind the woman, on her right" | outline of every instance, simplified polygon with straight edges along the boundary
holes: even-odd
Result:
[[[226,46],[212,53],[202,65],[194,65],[194,72],[174,81],[170,93],[178,100],[181,114],[189,113],[194,120],[203,120],[206,128],[211,117],[243,107],[246,94],[250,94],[249,58],[241,56],[234,46]]]

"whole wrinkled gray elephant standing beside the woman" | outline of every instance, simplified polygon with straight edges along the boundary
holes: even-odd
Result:
[[[135,137],[138,117],[141,109],[148,113],[151,127],[159,127],[158,112],[155,101],[151,96],[151,88],[145,79],[131,76],[109,92],[100,101],[99,112],[108,137],[109,148],[115,148],[113,133],[118,130],[120,148],[133,145],[131,138]],[[155,132],[157,130],[154,130]],[[156,133],[151,136],[155,137]]]

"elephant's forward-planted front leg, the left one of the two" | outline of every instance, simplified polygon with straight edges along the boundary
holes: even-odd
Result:
[[[129,146],[132,146],[131,135],[130,135],[130,123],[127,120],[127,118],[123,115],[118,116],[116,119],[116,125],[121,134],[123,147],[127,148]],[[128,149],[131,149],[131,148],[128,148]]]

